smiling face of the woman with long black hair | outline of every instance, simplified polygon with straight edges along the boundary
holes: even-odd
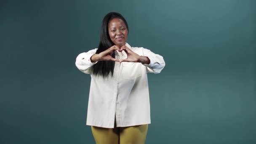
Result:
[[[109,21],[109,37],[115,45],[123,46],[128,38],[128,29],[122,19],[114,18]]]

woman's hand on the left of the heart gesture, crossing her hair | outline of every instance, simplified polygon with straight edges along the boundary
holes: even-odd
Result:
[[[91,62],[96,61],[119,61],[118,59],[115,59],[112,57],[112,53],[114,51],[119,51],[120,48],[117,45],[113,45],[112,47],[108,48],[106,51],[102,51],[98,54],[93,54],[91,56]]]

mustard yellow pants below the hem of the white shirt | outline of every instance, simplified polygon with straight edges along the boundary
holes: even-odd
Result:
[[[91,126],[96,144],[144,144],[148,125],[101,128]]]

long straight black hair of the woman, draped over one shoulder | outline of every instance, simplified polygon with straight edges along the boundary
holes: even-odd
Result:
[[[111,12],[104,16],[102,23],[101,23],[101,35],[100,35],[100,42],[99,47],[96,53],[101,53],[102,51],[107,50],[108,48],[112,47],[114,43],[109,37],[109,30],[108,25],[109,21],[114,18],[122,19],[126,25],[127,30],[128,24],[125,18],[120,13]],[[115,53],[112,53],[112,57],[115,58]],[[113,76],[115,67],[115,61],[98,61],[96,64],[93,65],[93,75],[100,75],[102,77],[108,77],[109,74]]]

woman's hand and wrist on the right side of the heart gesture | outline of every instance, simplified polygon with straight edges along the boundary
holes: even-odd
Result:
[[[139,56],[137,53],[134,53],[133,51],[130,50],[127,46],[123,45],[119,51],[125,51],[127,54],[127,59],[122,59],[120,61],[127,61],[127,62],[140,62],[142,64],[150,64],[150,60],[147,56]]]

